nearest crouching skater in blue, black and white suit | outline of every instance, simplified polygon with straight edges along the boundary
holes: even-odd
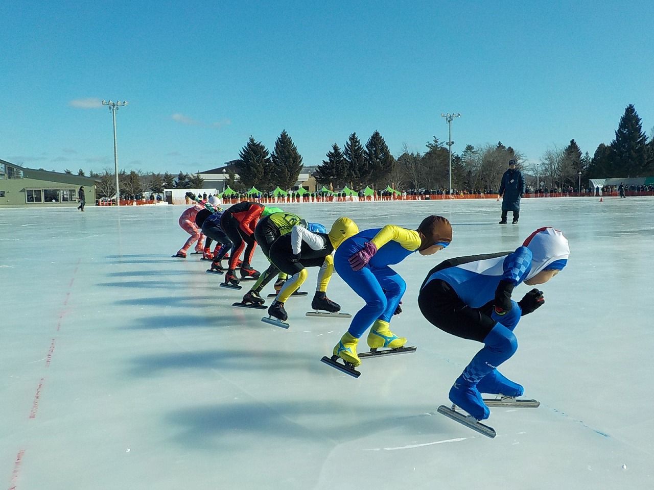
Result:
[[[428,272],[418,297],[424,318],[451,335],[485,344],[449,391],[449,399],[475,419],[490,415],[480,393],[519,397],[524,391],[497,367],[518,348],[513,329],[520,319],[545,300],[543,291],[532,289],[515,302],[513,288],[521,282],[545,284],[566,266],[569,255],[566,237],[543,227],[515,252],[455,257]]]

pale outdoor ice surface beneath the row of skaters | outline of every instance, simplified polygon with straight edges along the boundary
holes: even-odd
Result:
[[[364,359],[358,379],[320,363],[349,320],[306,318],[312,295],[286,303],[288,330],[233,308],[252,283],[171,258],[186,206],[3,209],[0,489],[654,488],[653,198],[523,199],[502,226],[490,200],[281,206],[328,228],[453,223],[449,248],[395,268],[391,327],[417,352]],[[544,225],[568,267],[502,366],[541,406],[491,409],[489,439],[436,413],[481,344],[430,325],[417,294],[440,261]],[[362,306],[336,275],[328,295]]]

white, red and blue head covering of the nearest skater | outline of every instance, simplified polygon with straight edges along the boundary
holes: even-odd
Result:
[[[532,253],[532,268],[525,279],[531,279],[542,270],[561,270],[566,267],[570,257],[568,239],[551,226],[534,231],[523,246]]]

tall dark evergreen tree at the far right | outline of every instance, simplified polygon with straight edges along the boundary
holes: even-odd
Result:
[[[629,104],[611,142],[611,176],[637,177],[647,171],[647,135],[634,105]]]

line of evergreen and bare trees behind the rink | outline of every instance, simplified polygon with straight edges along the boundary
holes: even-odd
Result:
[[[427,142],[424,151],[414,150],[404,144],[397,157],[375,131],[366,144],[356,133],[351,133],[342,146],[337,142],[326,152],[326,158],[318,165],[315,178],[319,186],[342,189],[349,186],[360,189],[371,186],[383,189],[429,189],[447,193],[449,189],[450,153],[447,142],[437,137]],[[502,142],[473,146],[467,144],[460,154],[452,154],[452,188],[455,191],[496,191],[509,159],[515,159],[525,172],[528,184],[547,188],[577,188],[579,182],[589,178],[642,177],[654,175],[654,138],[647,139],[642,121],[633,105],[628,105],[620,119],[615,139],[610,144],[600,144],[593,157],[582,152],[576,140],[566,146],[554,146],[546,150],[538,161],[526,161],[525,155]],[[272,152],[250,136],[239,152],[236,163],[239,177],[230,169],[226,185],[236,191],[252,186],[260,191],[271,191],[279,186],[292,188],[303,165],[303,159],[286,130],[275,140]],[[72,173],[68,169],[65,171]],[[78,175],[84,176],[79,169]],[[99,197],[111,197],[115,193],[112,172],[90,172],[100,180]],[[128,197],[147,191],[163,192],[163,188],[201,188],[203,178],[199,174],[179,172],[177,176],[141,171],[121,171],[119,174],[121,195]]]

